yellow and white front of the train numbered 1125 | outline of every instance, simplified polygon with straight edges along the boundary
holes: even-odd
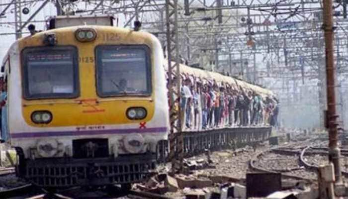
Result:
[[[159,40],[106,25],[31,32],[2,63],[2,133],[16,148],[18,175],[45,187],[143,181],[169,132]]]

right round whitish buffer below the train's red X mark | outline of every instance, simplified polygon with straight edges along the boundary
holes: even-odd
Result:
[[[129,153],[140,153],[144,149],[145,139],[139,133],[125,136],[123,146]]]

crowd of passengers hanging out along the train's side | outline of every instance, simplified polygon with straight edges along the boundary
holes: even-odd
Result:
[[[180,106],[182,130],[277,125],[279,102],[274,97],[191,76],[182,79],[181,98],[174,104]]]

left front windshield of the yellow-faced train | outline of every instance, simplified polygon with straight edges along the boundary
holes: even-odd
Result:
[[[24,98],[78,97],[77,54],[77,49],[72,46],[24,49],[22,52]]]

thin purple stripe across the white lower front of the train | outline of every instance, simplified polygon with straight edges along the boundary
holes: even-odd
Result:
[[[11,133],[11,138],[101,135],[101,134],[122,134],[122,133],[161,133],[161,132],[166,132],[167,130],[168,130],[167,127],[155,127],[155,128],[81,130],[81,131],[51,131],[51,132],[27,132],[27,133],[21,132],[21,133]]]

